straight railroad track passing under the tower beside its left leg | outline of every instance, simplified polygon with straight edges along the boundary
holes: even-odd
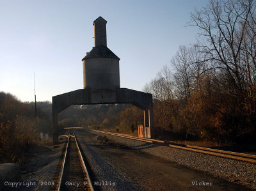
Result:
[[[84,164],[83,157],[77,143],[76,135],[70,130],[67,137],[67,145],[63,154],[63,160],[57,167],[54,177],[55,187],[51,190],[92,190],[92,181]]]

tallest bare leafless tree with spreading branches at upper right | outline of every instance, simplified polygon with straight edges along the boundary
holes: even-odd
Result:
[[[201,31],[198,45],[207,54],[205,61],[209,61],[212,68],[225,70],[239,92],[244,89],[241,52],[254,8],[254,0],[211,0],[207,7],[191,15],[191,26]]]

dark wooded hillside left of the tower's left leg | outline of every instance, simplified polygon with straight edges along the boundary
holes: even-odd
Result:
[[[0,92],[0,163],[23,164],[39,132],[51,132],[49,105],[38,102],[35,118],[35,102],[20,102],[14,95]]]

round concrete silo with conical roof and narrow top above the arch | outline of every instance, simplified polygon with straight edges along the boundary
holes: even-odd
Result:
[[[106,24],[102,17],[94,20],[95,47],[82,59],[84,88],[92,91],[120,88],[120,58],[107,47]]]

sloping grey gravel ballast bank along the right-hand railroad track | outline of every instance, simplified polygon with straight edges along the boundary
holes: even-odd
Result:
[[[177,162],[177,164],[182,164],[198,171],[208,172],[214,176],[225,178],[228,181],[245,185],[248,188],[256,189],[256,165],[250,162],[159,146],[100,132],[93,131],[93,134],[104,135],[108,139],[113,139],[115,142],[124,144],[129,148],[140,149],[145,153]]]

